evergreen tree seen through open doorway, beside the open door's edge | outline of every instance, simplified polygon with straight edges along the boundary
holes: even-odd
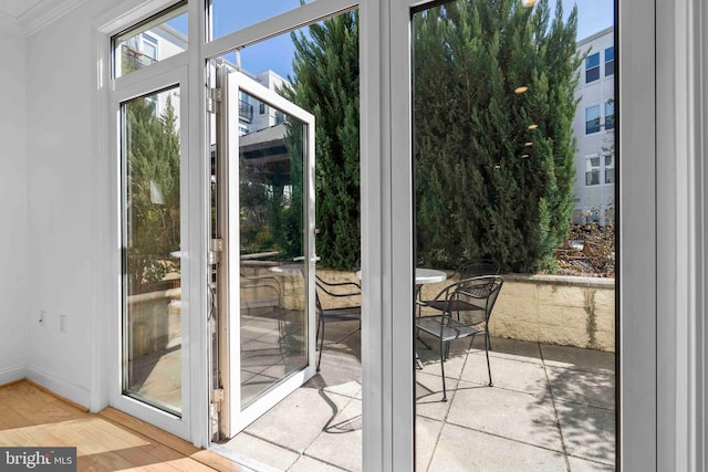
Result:
[[[292,34],[292,87],[283,96],[315,116],[317,254],[322,265],[360,259],[358,22],[347,12]]]

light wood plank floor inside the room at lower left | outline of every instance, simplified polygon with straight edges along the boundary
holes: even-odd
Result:
[[[28,380],[0,387],[0,445],[76,447],[79,471],[242,470],[117,410],[93,415]]]

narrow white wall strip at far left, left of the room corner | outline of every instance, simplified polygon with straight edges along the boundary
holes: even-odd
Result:
[[[24,36],[0,25],[0,385],[25,376],[29,353]]]

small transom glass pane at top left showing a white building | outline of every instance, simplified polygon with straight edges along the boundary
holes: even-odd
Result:
[[[177,6],[113,38],[113,71],[119,77],[187,50],[187,4]]]

